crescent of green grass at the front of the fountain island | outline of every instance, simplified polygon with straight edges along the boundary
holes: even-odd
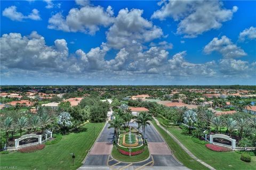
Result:
[[[143,151],[141,154],[134,155],[134,156],[127,156],[127,155],[120,154],[120,152],[117,150],[117,147],[114,146],[112,149],[111,155],[115,159],[123,161],[123,162],[139,162],[139,161],[145,160],[149,157],[149,151],[148,151],[148,147],[145,147],[145,151]]]

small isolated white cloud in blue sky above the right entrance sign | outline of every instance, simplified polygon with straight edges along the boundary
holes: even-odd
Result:
[[[215,37],[212,41],[204,47],[204,52],[210,54],[213,51],[217,51],[226,58],[242,57],[247,55],[241,47],[233,44],[232,41],[222,36],[220,39]]]

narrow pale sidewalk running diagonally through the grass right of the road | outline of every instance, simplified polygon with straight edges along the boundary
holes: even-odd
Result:
[[[154,118],[154,120],[156,121],[156,124],[157,124],[160,128],[162,128],[162,129],[165,131],[165,128],[158,122],[158,120],[157,120],[155,117],[153,117],[153,118]],[[209,168],[209,169],[211,169],[211,170],[216,170],[215,168],[213,168],[213,167],[210,166],[209,164],[206,164],[205,162],[203,162],[203,160],[198,159],[194,154],[192,154],[192,153],[191,153],[191,152],[173,135],[173,134],[171,134],[169,131],[166,131],[166,132],[167,132],[167,134],[170,135],[170,137],[171,137],[175,142],[177,142],[177,143],[179,144],[179,146],[180,146],[183,150],[185,150],[185,151],[187,152],[187,154],[188,154],[191,158],[195,159],[197,162],[203,164],[204,166],[206,166],[207,168]]]

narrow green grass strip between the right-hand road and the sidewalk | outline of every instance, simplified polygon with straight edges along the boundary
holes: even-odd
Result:
[[[159,133],[161,133],[162,137],[165,138],[165,131],[160,128],[156,122],[152,121],[153,125],[157,129]],[[173,155],[185,166],[187,166],[190,169],[208,169],[201,163],[197,162],[195,159],[191,158],[187,152],[185,152],[177,142],[175,142],[169,135],[166,135],[167,138],[165,138],[165,141],[167,145],[170,147],[170,149],[173,151]],[[192,141],[193,142],[193,141]]]

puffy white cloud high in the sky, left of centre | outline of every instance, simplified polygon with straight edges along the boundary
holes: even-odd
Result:
[[[106,11],[101,6],[71,8],[66,17],[60,12],[54,14],[49,19],[48,28],[94,35],[100,26],[107,27],[114,22],[113,14],[111,6],[108,6]]]

